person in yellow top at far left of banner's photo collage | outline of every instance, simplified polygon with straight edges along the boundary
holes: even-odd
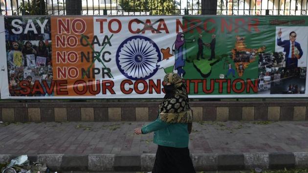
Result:
[[[13,42],[13,49],[8,53],[8,64],[11,67],[20,67],[23,66],[24,59],[22,56],[22,52],[19,50],[19,44],[17,42]]]

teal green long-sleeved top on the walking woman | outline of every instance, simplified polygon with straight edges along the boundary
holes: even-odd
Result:
[[[189,134],[186,123],[166,123],[156,119],[152,123],[142,127],[142,133],[154,131],[153,142],[157,145],[175,148],[188,147]]]

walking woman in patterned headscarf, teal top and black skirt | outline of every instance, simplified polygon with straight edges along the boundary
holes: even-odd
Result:
[[[196,173],[189,155],[189,131],[192,111],[186,86],[176,73],[164,77],[165,97],[159,105],[157,119],[134,130],[136,134],[154,131],[154,143],[158,145],[152,173]]]

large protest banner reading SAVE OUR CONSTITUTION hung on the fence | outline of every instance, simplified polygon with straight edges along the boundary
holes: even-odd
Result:
[[[308,97],[306,19],[0,17],[1,98]]]

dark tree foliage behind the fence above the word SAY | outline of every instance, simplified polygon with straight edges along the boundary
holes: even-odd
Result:
[[[22,15],[46,15],[46,4],[44,0],[32,0],[30,3],[24,1],[18,10]]]

